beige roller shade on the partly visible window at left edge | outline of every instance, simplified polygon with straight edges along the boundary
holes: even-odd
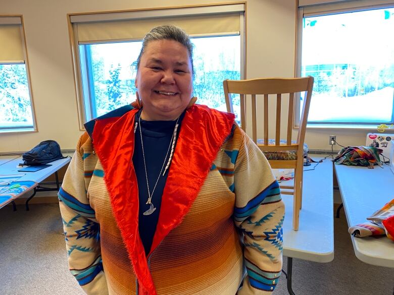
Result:
[[[4,18],[7,19],[7,18]],[[22,47],[21,24],[4,24],[0,18],[0,63],[25,60]],[[15,19],[15,18],[10,18]]]

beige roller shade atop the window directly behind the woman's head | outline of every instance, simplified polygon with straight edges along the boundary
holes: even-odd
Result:
[[[79,44],[141,40],[153,27],[173,24],[189,35],[239,33],[243,4],[73,15]]]

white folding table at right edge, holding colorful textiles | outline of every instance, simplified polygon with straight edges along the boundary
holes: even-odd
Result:
[[[348,225],[367,221],[375,211],[394,198],[394,173],[389,166],[335,165],[336,178]],[[361,261],[394,268],[394,242],[384,235],[378,238],[351,236],[356,257]]]

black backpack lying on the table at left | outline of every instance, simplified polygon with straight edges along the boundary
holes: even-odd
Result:
[[[41,141],[30,151],[23,153],[23,165],[35,166],[63,159],[59,144],[54,140]]]

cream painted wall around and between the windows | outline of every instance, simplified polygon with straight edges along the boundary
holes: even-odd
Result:
[[[2,1],[0,15],[22,14],[29,57],[31,87],[38,132],[0,134],[0,152],[26,151],[54,139],[62,149],[73,149],[79,130],[68,13],[132,10],[182,5],[224,3],[228,0],[13,0]],[[247,78],[293,77],[296,1],[247,1]],[[3,46],[3,44],[2,44]],[[307,130],[312,149],[330,149],[328,135],[342,145],[365,144],[367,131]]]

